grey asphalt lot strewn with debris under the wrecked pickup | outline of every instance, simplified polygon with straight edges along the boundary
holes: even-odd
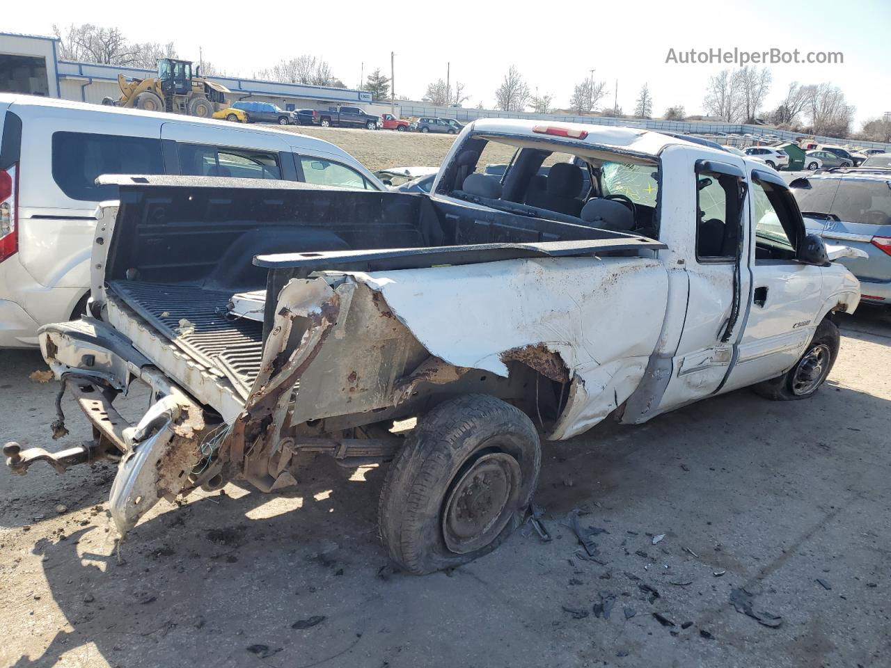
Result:
[[[864,308],[843,333],[808,401],[741,390],[546,444],[552,542],[526,526],[450,574],[388,568],[382,468],[320,459],[280,493],[162,501],[119,550],[112,466],[0,472],[0,665],[886,666],[891,317]],[[43,368],[0,352],[0,429],[59,449],[88,434],[66,403],[53,443],[55,383],[29,378]],[[573,510],[606,530],[601,563],[579,558]],[[737,612],[740,588],[781,625]]]

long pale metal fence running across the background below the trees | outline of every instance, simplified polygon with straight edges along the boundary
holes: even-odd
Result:
[[[708,121],[655,120],[652,118],[609,118],[603,116],[574,116],[564,114],[536,114],[529,111],[497,111],[488,109],[459,109],[456,107],[437,107],[413,102],[401,102],[403,117],[432,116],[439,118],[455,118],[460,121],[471,121],[477,118],[523,118],[528,120],[560,120],[569,123],[586,123],[598,126],[640,127],[657,132],[676,132],[683,134],[699,134],[715,139],[718,143],[732,145],[748,145],[757,141],[775,140],[778,142],[797,142],[802,137],[813,138],[816,143],[849,144],[863,148],[891,151],[891,144],[882,142],[852,141],[779,130],[775,127],[750,126],[744,123],[715,123]],[[724,141],[726,139],[726,141]]]

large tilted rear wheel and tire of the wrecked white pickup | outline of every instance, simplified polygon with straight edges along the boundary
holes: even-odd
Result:
[[[519,409],[489,395],[440,403],[390,465],[380,539],[413,574],[482,557],[521,524],[540,468],[538,433]]]

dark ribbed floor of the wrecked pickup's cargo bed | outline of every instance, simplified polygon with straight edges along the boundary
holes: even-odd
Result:
[[[229,315],[232,292],[137,281],[112,281],[110,289],[185,353],[248,395],[260,369],[263,323]],[[180,331],[181,320],[194,331]]]

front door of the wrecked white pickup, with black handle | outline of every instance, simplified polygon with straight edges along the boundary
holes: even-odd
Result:
[[[751,305],[738,359],[722,392],[788,371],[813,337],[823,302],[821,268],[795,259],[805,228],[779,177],[752,170],[748,199],[755,241],[749,258]]]

